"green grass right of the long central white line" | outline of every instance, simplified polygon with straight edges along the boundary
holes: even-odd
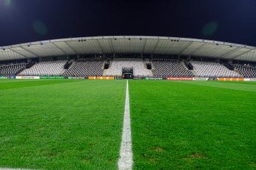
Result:
[[[134,169],[256,169],[256,82],[129,81]]]

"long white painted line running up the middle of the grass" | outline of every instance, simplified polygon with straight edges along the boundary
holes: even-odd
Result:
[[[132,169],[132,135],[131,135],[131,116],[130,116],[130,101],[129,101],[129,84],[127,80],[125,110],[124,110],[124,125],[122,131],[122,142],[119,157],[119,170]]]

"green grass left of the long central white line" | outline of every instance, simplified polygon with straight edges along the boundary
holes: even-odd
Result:
[[[0,167],[117,169],[125,83],[1,80]]]

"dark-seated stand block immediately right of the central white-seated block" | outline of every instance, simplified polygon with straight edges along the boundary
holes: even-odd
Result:
[[[194,74],[180,60],[152,60],[153,76],[156,77],[192,77]]]

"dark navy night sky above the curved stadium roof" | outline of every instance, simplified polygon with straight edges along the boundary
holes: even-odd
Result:
[[[157,35],[256,46],[255,0],[0,0],[0,46],[68,37]]]

